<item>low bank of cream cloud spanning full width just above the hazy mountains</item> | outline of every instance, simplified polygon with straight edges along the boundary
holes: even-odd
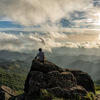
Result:
[[[94,37],[94,36],[93,36]],[[0,33],[0,50],[31,51],[43,48],[52,51],[53,48],[100,48],[100,42],[69,41],[71,37],[64,33],[50,32],[46,34],[23,34],[19,35]]]

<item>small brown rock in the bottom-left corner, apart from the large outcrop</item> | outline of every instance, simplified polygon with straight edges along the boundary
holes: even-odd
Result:
[[[17,96],[18,94],[14,92],[7,86],[0,86],[0,100],[8,100],[12,96]]]

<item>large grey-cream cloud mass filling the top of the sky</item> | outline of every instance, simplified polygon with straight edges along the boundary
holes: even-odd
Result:
[[[58,23],[75,10],[85,10],[91,0],[0,0],[0,15],[22,25]],[[88,7],[87,7],[88,5]]]

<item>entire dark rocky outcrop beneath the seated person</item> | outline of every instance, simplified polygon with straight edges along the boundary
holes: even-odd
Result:
[[[41,63],[33,60],[31,69],[25,81],[25,93],[9,100],[34,100],[43,94],[43,90],[55,97],[78,100],[80,96],[84,99],[88,92],[95,93],[91,77],[82,71],[62,69],[57,65],[46,61]],[[43,100],[52,100],[46,97]]]

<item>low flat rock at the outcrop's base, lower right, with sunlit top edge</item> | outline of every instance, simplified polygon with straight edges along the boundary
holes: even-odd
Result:
[[[83,98],[87,94],[87,91],[81,86],[75,86],[69,89],[61,88],[58,86],[58,87],[47,89],[47,91],[49,91],[52,94],[55,94],[59,98],[63,97],[66,99],[74,99],[74,100],[76,100],[75,96],[81,96]]]

